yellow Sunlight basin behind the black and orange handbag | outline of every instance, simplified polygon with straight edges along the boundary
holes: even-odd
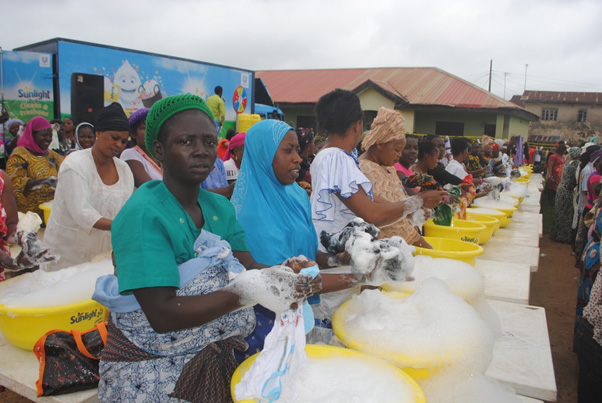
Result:
[[[24,308],[0,305],[0,331],[12,344],[32,350],[50,330],[88,330],[106,320],[108,309],[94,300],[74,304]]]

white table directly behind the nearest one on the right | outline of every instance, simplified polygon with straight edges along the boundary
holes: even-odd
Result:
[[[528,264],[477,259],[475,268],[485,280],[485,297],[498,301],[529,303],[531,268]]]

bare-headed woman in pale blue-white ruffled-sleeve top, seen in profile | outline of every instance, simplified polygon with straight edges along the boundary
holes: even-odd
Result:
[[[316,105],[318,128],[326,135],[316,155],[312,177],[312,220],[318,236],[334,233],[356,217],[384,226],[420,208],[441,204],[446,192],[428,190],[402,201],[375,201],[372,183],[358,164],[356,146],[363,133],[364,112],[357,95],[336,89]],[[320,246],[320,250],[325,250]]]

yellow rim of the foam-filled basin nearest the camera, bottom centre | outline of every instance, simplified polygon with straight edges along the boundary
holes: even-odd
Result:
[[[349,358],[350,360],[361,360],[366,362],[366,364],[375,365],[379,368],[391,371],[395,374],[395,376],[399,378],[400,382],[408,384],[408,386],[414,390],[415,403],[426,403],[426,397],[424,396],[422,389],[420,388],[420,386],[418,386],[416,381],[410,377],[410,375],[375,356],[342,347],[313,344],[307,344],[305,346],[305,352],[310,358]],[[253,363],[255,362],[255,359],[257,358],[258,354],[259,353],[246,359],[242,364],[238,366],[238,368],[236,368],[236,371],[234,371],[234,374],[232,375],[232,382],[230,383],[230,393],[232,394],[232,400],[234,400],[235,403],[254,402],[253,400],[236,400],[234,389],[236,388],[236,385],[238,385],[238,383],[242,380],[242,377],[245,374],[245,372],[247,372],[249,368],[251,368],[251,365],[253,365]]]

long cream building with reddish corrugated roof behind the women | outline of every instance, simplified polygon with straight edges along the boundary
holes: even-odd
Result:
[[[268,70],[256,72],[295,127],[315,127],[314,106],[336,89],[355,92],[366,129],[381,106],[399,110],[406,131],[498,138],[527,136],[538,116],[435,67]]]

